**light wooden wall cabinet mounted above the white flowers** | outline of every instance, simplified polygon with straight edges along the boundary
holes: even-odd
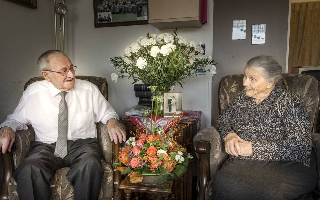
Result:
[[[201,2],[202,0],[148,1],[148,23],[158,29],[202,27]]]

